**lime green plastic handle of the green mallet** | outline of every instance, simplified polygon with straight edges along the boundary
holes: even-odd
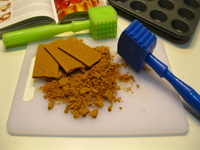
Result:
[[[34,28],[28,28],[3,34],[3,43],[5,46],[19,45],[31,41],[41,40],[53,37],[63,32],[78,32],[91,28],[90,20],[72,21],[64,25],[45,25]]]

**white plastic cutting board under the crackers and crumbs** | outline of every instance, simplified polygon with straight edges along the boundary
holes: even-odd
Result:
[[[118,39],[81,39],[91,47],[109,46],[115,55],[115,61],[122,61],[116,54]],[[40,43],[49,42],[51,41]],[[45,82],[34,81],[29,72],[38,44],[39,42],[29,44],[27,48],[7,122],[9,133],[43,136],[135,136],[184,134],[188,130],[186,114],[179,95],[153,70],[141,70],[136,73],[130,67],[122,69],[122,73],[129,72],[135,77],[136,82],[132,88],[134,93],[120,90],[118,96],[121,96],[123,102],[114,103],[111,112],[107,111],[109,104],[99,109],[96,119],[90,116],[74,119],[70,113],[64,114],[65,105],[56,105],[48,111],[48,101],[43,99],[42,92],[37,90]],[[153,54],[169,66],[161,41],[157,42]],[[27,82],[32,82],[32,88],[35,87],[34,96],[29,101],[23,100]],[[140,85],[139,89],[136,88],[136,84]],[[130,83],[119,85],[122,88],[131,86]],[[119,107],[122,107],[122,110]]]

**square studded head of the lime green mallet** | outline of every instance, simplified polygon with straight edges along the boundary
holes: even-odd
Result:
[[[117,35],[117,12],[112,6],[94,7],[88,10],[93,39],[114,38]]]

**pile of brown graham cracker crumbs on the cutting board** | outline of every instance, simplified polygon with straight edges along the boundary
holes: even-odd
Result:
[[[117,90],[120,89],[117,81],[135,82],[134,77],[128,75],[128,72],[120,73],[122,65],[113,63],[109,47],[99,46],[93,49],[101,53],[101,59],[93,66],[80,68],[70,74],[61,71],[59,78],[50,78],[39,88],[49,101],[49,110],[59,102],[66,105],[64,113],[70,112],[74,118],[86,117],[87,114],[96,118],[105,101],[110,104],[108,112],[115,102],[122,101],[121,97],[117,97]]]

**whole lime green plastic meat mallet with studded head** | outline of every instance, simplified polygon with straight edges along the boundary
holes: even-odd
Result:
[[[114,38],[117,35],[117,12],[110,6],[93,7],[88,10],[88,20],[72,21],[64,25],[45,25],[3,34],[5,46],[14,46],[53,37],[63,32],[89,29],[93,39]]]

